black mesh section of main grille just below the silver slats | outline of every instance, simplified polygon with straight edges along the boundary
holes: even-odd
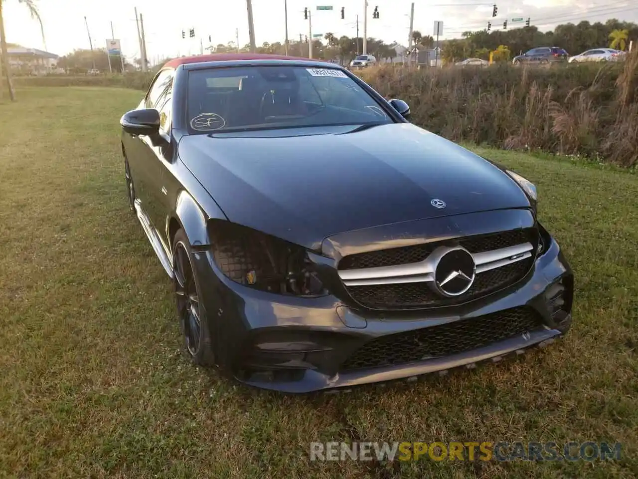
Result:
[[[449,306],[485,296],[512,284],[527,273],[533,259],[517,261],[502,268],[476,275],[467,293],[454,298],[444,298],[434,293],[425,282],[348,286],[348,293],[358,303],[375,309],[397,309]]]

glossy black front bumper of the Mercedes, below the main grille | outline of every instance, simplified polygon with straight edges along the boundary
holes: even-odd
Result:
[[[572,319],[573,275],[553,239],[521,282],[464,305],[434,310],[371,312],[334,296],[256,291],[228,280],[205,251],[195,254],[195,267],[202,284],[210,286],[202,299],[220,369],[242,383],[280,392],[350,388],[471,368],[546,346],[567,332]],[[528,319],[519,318],[521,326],[512,335],[503,337],[502,328],[488,333],[492,336],[475,331],[481,321],[489,324],[511,312],[519,317],[523,310],[535,322],[528,327]],[[450,353],[397,357],[397,344],[404,351],[422,351],[419,344],[429,333],[449,341]],[[459,343],[464,335],[472,339]],[[394,338],[403,342],[394,343]],[[370,349],[377,343],[386,346]],[[377,351],[392,360],[376,361]]]

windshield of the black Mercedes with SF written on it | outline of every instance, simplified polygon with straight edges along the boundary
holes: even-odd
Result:
[[[236,66],[188,73],[191,132],[392,123],[343,70]]]

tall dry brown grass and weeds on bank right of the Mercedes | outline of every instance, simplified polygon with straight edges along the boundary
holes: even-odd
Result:
[[[638,51],[623,63],[357,72],[412,121],[452,141],[602,155],[638,165]]]

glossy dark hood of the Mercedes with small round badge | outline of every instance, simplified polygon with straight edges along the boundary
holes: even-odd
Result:
[[[188,135],[179,156],[230,221],[312,249],[338,232],[530,208],[498,167],[410,123]]]

